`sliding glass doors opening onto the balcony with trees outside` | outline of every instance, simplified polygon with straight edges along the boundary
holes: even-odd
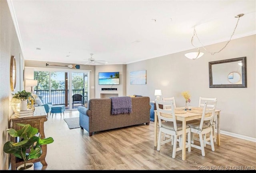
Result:
[[[43,103],[77,109],[88,101],[88,72],[34,71],[34,80],[38,80],[35,94],[42,95]],[[81,102],[73,102],[74,94],[81,95]]]

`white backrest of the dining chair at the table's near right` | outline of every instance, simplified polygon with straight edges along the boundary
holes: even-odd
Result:
[[[200,121],[199,129],[202,130],[202,127],[203,127],[205,121],[210,121],[210,124],[212,124],[212,121],[213,121],[214,115],[215,115],[216,103],[217,103],[217,100],[204,101],[204,108],[203,108],[203,113],[202,113],[202,118]]]

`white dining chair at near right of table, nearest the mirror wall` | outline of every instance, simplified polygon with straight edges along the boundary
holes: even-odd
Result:
[[[195,147],[197,149],[201,149],[202,156],[205,156],[204,147],[206,144],[211,145],[212,151],[214,149],[214,141],[213,141],[213,131],[212,131],[212,122],[215,115],[215,108],[216,108],[216,101],[205,101],[204,107],[202,110],[202,118],[200,121],[192,120],[187,121],[187,125],[189,125],[191,133],[196,133],[199,135],[200,146],[195,145],[194,143],[191,144],[191,147]],[[211,108],[209,108],[211,107]],[[210,142],[204,137],[203,135],[210,134]],[[196,138],[194,138],[195,140]]]

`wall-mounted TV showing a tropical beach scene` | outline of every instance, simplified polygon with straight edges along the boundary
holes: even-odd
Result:
[[[119,72],[99,72],[99,85],[119,85]]]

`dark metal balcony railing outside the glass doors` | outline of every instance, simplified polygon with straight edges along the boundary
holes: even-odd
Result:
[[[43,103],[52,102],[52,105],[65,105],[65,89],[52,89],[51,94],[50,90],[34,90],[36,95],[42,95]],[[69,90],[68,92],[69,93]],[[81,94],[84,97],[84,102],[87,102],[87,92],[84,92],[84,89],[72,89],[72,95],[74,94]],[[51,101],[50,101],[51,95]],[[72,103],[72,101],[71,101]],[[68,97],[68,104],[69,104],[69,97]]]

